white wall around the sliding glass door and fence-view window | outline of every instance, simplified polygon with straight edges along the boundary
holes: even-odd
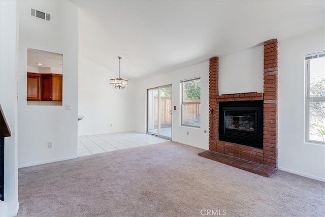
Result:
[[[180,81],[201,77],[201,128],[183,127],[180,123]],[[136,82],[135,130],[146,133],[146,92],[149,88],[172,84],[172,140],[191,146],[209,149],[209,62],[172,71]],[[207,133],[204,133],[207,130]],[[189,135],[186,135],[186,132]]]

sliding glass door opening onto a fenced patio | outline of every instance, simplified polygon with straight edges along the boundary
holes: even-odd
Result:
[[[172,138],[172,85],[148,89],[147,133]]]

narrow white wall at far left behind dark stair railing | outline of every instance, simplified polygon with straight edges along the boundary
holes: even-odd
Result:
[[[0,1],[0,104],[11,130],[5,137],[5,195],[0,201],[0,216],[18,212],[17,163],[17,2]]]

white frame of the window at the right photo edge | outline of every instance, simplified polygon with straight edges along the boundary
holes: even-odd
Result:
[[[305,56],[305,142],[325,145],[325,141],[310,139],[310,103],[325,102],[325,97],[312,97],[310,95],[310,59],[325,58],[325,52],[309,54]]]

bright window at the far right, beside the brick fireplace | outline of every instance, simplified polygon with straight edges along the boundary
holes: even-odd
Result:
[[[306,67],[306,141],[325,144],[325,52],[308,55]]]

